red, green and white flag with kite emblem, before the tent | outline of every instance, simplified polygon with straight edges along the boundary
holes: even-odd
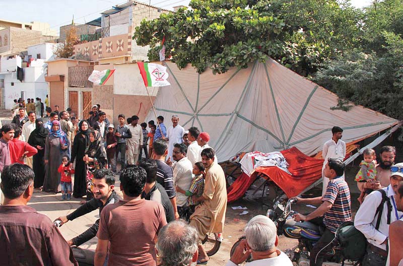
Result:
[[[156,63],[138,62],[144,85],[146,87],[162,87],[171,85],[168,82],[168,72],[165,66]]]

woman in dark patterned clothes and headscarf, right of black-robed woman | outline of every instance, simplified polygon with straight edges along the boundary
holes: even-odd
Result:
[[[101,142],[101,134],[98,130],[91,130],[90,146],[83,157],[87,167],[87,201],[93,198],[92,188],[94,186],[94,172],[98,169],[107,168],[105,146]]]

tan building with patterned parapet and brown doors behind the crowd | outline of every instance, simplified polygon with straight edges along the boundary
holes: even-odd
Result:
[[[75,45],[75,59],[61,58],[47,62],[50,105],[54,106],[56,102],[60,108],[71,107],[79,118],[88,118],[92,105],[100,104],[108,119],[115,123],[119,113],[126,117],[136,114],[144,119],[151,103],[135,62],[148,60],[149,47],[138,46],[131,37],[143,19],[155,19],[167,12],[128,1],[88,22],[86,25],[99,27],[95,33],[89,32],[96,40]],[[105,85],[88,81],[93,70],[105,69],[115,70]],[[155,98],[158,89],[149,88],[149,91]]]

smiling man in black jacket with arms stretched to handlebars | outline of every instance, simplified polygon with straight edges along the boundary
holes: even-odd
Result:
[[[100,169],[94,174],[94,188],[92,192],[94,193],[94,197],[86,202],[84,205],[80,206],[76,211],[69,214],[68,216],[62,216],[57,218],[54,221],[60,221],[62,226],[63,224],[73,221],[76,218],[79,218],[83,215],[91,213],[92,211],[99,208],[99,215],[101,215],[102,210],[108,204],[117,203],[120,200],[118,194],[116,194],[115,188],[115,175],[109,169]],[[67,241],[69,245],[79,246],[88,240],[92,239],[97,235],[99,227],[99,219],[91,226],[87,231],[82,233],[79,236]]]

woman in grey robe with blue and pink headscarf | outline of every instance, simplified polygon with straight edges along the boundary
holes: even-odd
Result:
[[[60,173],[57,171],[61,164],[61,157],[67,156],[69,140],[60,128],[60,122],[54,120],[45,142],[45,164],[47,164],[43,191],[60,191]]]

